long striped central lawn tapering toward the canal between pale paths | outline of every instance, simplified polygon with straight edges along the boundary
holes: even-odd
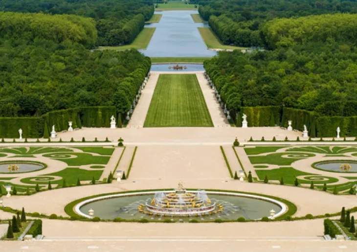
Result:
[[[213,127],[196,74],[160,74],[144,127]]]

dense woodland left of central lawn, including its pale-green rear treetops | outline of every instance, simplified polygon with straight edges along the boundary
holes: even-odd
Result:
[[[0,22],[1,117],[79,106],[115,106],[124,114],[150,69],[136,50],[87,49],[96,35],[88,18],[1,13]]]

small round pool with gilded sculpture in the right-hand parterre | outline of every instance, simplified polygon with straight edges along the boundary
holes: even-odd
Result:
[[[315,169],[331,172],[357,173],[357,161],[354,160],[328,160],[312,164]]]

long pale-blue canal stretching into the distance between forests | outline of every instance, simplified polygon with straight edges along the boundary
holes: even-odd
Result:
[[[194,23],[191,14],[197,11],[160,11],[159,23],[147,24],[156,27],[154,35],[145,50],[149,57],[212,57],[216,51],[207,49],[198,27],[208,27],[206,23]]]

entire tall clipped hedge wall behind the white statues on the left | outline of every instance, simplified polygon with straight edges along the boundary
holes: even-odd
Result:
[[[0,117],[0,137],[18,138],[21,128],[23,138],[48,138],[52,125],[55,125],[55,130],[60,132],[68,129],[68,121],[72,121],[73,128],[110,127],[112,115],[115,116],[118,126],[121,126],[121,120],[113,106],[58,110],[40,117]]]

